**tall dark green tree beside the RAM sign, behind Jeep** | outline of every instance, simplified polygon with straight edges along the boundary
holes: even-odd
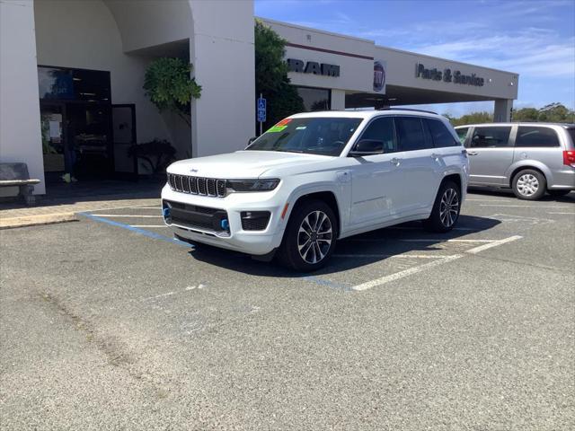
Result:
[[[264,128],[280,119],[305,110],[296,87],[289,84],[288,64],[284,60],[286,40],[259,20],[255,22],[255,91],[267,99],[268,112]]]

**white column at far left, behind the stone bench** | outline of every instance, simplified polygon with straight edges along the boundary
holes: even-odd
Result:
[[[34,194],[44,194],[33,6],[0,2],[0,162],[26,163],[31,178],[41,181]]]

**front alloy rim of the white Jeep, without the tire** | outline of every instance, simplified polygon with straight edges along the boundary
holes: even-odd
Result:
[[[332,247],[332,221],[323,211],[312,211],[304,217],[297,231],[297,251],[307,263],[322,261]]]

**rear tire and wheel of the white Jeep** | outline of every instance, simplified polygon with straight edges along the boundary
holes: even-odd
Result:
[[[461,188],[454,181],[444,181],[439,186],[431,215],[423,221],[430,232],[446,233],[456,225],[461,211]]]

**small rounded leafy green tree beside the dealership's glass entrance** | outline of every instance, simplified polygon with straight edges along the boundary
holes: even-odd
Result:
[[[170,110],[189,126],[190,101],[199,99],[201,85],[190,77],[192,66],[181,58],[157,58],[146,69],[144,90],[158,110]]]

